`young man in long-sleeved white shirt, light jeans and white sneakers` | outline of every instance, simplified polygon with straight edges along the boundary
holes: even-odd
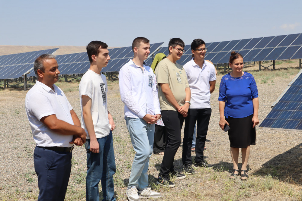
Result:
[[[125,120],[136,152],[133,159],[127,197],[159,198],[161,194],[148,187],[149,159],[153,152],[155,123],[161,118],[153,70],[147,66],[149,40],[137,37],[132,42],[133,59],[119,72],[120,97],[125,104]]]

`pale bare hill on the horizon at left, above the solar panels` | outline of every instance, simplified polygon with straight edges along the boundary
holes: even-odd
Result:
[[[59,48],[54,55],[65,55],[78,52],[86,52],[86,46],[3,46],[0,45],[0,56],[23,52],[32,52],[44,49]],[[115,47],[108,47],[108,49]]]

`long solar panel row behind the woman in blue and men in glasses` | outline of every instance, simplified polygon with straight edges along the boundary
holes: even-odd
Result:
[[[244,61],[268,61],[302,58],[302,33],[251,38],[242,40],[230,40],[222,42],[206,43],[208,48],[205,59],[214,64],[228,63],[232,51],[239,52]],[[184,65],[191,60],[191,45],[186,45],[185,54],[177,61]],[[159,50],[169,54],[168,47]]]

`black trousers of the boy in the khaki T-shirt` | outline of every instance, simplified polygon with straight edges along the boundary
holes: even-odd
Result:
[[[162,110],[161,114],[166,127],[167,142],[159,176],[168,177],[169,173],[174,171],[174,156],[182,142],[181,130],[185,118],[178,111],[173,110]]]

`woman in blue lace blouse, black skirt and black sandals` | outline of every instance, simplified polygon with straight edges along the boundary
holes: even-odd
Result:
[[[232,72],[221,78],[219,88],[219,125],[222,130],[225,124],[230,126],[228,131],[233,160],[233,172],[230,179],[236,179],[239,174],[239,148],[242,154],[241,180],[249,178],[247,162],[250,145],[255,145],[258,119],[258,89],[252,74],[243,72],[243,57],[232,52],[230,56]]]

